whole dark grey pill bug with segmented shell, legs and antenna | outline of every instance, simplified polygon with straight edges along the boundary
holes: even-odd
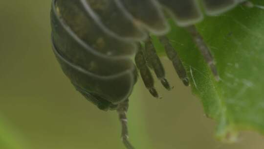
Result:
[[[155,97],[151,69],[171,90],[150,34],[158,36],[182,80],[186,71],[170,44],[165,14],[192,36],[216,80],[220,77],[213,56],[194,26],[206,15],[224,13],[246,0],[52,0],[53,51],[76,90],[102,110],[116,110],[122,125],[122,140],[128,149],[126,113],[137,70]],[[204,13],[201,8],[204,8]],[[134,57],[135,64],[132,61]]]

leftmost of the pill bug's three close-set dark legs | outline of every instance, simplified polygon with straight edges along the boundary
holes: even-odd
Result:
[[[154,88],[154,79],[150,72],[150,69],[147,66],[145,56],[142,52],[142,46],[138,43],[138,52],[135,55],[135,63],[137,68],[139,69],[140,75],[143,79],[143,82],[146,88],[150,91],[150,93],[155,97],[158,98],[158,93]]]

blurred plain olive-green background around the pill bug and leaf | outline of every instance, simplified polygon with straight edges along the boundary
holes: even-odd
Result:
[[[84,99],[61,71],[50,44],[51,0],[0,0],[0,149],[124,149],[116,112]],[[264,149],[243,132],[235,144],[214,138],[214,122],[199,99],[163,60],[174,90],[141,79],[131,97],[130,140],[136,149]]]

